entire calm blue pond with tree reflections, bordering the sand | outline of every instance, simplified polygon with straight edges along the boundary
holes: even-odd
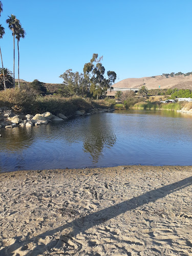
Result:
[[[119,111],[1,129],[0,170],[192,165],[192,115]]]

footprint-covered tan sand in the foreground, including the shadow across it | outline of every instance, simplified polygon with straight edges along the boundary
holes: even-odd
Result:
[[[192,166],[0,178],[0,255],[192,255]]]

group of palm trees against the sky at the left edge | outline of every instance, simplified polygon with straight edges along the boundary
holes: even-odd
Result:
[[[2,1],[0,1],[0,16],[3,11],[3,4]],[[15,88],[15,38],[17,39],[17,51],[18,51],[18,88],[20,88],[20,82],[19,82],[19,41],[20,38],[24,38],[26,35],[26,32],[24,28],[22,28],[22,24],[20,21],[16,18],[15,15],[11,14],[11,16],[8,16],[8,19],[6,19],[6,23],[8,24],[9,29],[12,32],[13,35],[13,76],[12,72],[8,69],[5,69],[3,66],[3,57],[2,57],[2,51],[0,47],[0,55],[2,60],[2,68],[0,69],[0,87],[3,87],[4,90],[6,88],[9,88],[12,86]],[[5,35],[5,28],[0,25],[0,39],[3,38]]]

